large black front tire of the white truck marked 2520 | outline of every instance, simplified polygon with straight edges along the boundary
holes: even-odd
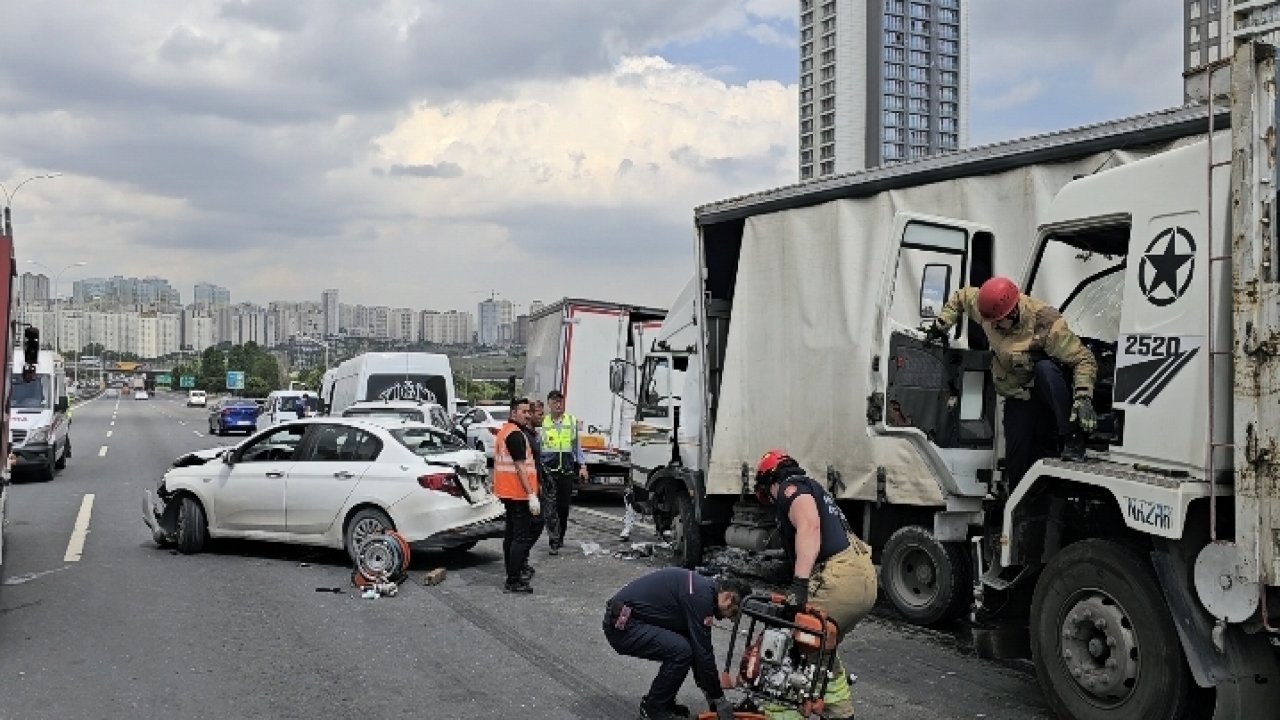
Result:
[[[1185,716],[1194,680],[1151,562],[1134,550],[1068,546],[1041,573],[1030,618],[1036,676],[1059,716]]]

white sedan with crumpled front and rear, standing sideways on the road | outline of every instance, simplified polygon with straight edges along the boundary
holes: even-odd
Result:
[[[183,455],[143,498],[160,544],[209,538],[355,548],[387,529],[415,550],[465,551],[502,537],[485,456],[447,432],[394,418],[311,418],[234,447]]]

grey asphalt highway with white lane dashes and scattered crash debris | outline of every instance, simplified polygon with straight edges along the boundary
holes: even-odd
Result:
[[[534,552],[536,593],[502,593],[500,543],[415,556],[397,597],[361,600],[340,552],[251,542],[157,548],[141,496],[206,437],[184,396],[74,410],[74,457],[12,491],[0,589],[0,719],[630,719],[655,665],[616,656],[604,600],[660,559],[621,547],[612,500],[590,501],[563,555]],[[632,541],[654,539],[639,532]],[[421,583],[447,566],[445,582]],[[317,588],[342,588],[340,594]],[[728,624],[717,629],[727,647]],[[1048,717],[1024,666],[878,614],[842,646],[859,717]],[[701,706],[687,682],[681,700]]]

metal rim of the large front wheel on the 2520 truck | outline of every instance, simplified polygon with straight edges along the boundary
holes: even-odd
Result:
[[[1064,607],[1059,661],[1068,676],[1093,705],[1124,705],[1142,669],[1129,614],[1100,589],[1080,591]]]

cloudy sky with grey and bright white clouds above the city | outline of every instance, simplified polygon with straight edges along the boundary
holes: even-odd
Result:
[[[1181,101],[1179,0],[963,0],[972,143]],[[33,0],[19,270],[233,301],[667,305],[692,208],[796,179],[797,0]]]

